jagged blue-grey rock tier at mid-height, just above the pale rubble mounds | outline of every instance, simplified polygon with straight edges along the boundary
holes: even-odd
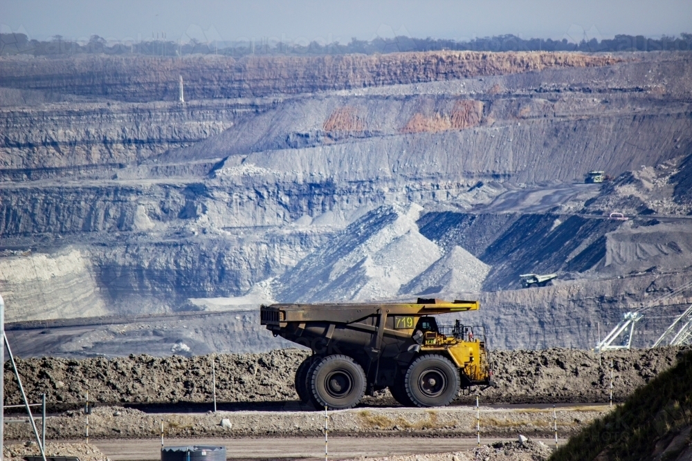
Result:
[[[277,159],[275,166],[289,169],[290,161]],[[116,171],[118,176],[129,173]],[[230,160],[215,175],[214,180],[0,182],[0,235],[156,232],[175,226],[235,232],[240,227],[286,225],[303,216],[345,225],[350,216],[385,203],[468,203],[503,190],[485,187],[468,194],[477,182],[471,178],[335,182],[317,175],[305,178],[295,170],[256,168],[250,162],[238,166]]]

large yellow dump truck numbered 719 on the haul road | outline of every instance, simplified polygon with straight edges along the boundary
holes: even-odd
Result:
[[[438,325],[433,315],[478,310],[478,301],[262,305],[274,336],[307,346],[295,372],[302,402],[352,408],[389,388],[404,406],[445,406],[459,388],[494,385],[483,327]]]

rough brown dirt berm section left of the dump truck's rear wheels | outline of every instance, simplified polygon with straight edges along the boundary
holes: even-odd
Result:
[[[276,402],[295,399],[293,373],[308,352],[274,350],[266,354],[67,360],[44,357],[17,361],[24,389],[33,402],[46,393],[55,408],[78,408],[89,391],[95,402],[208,402],[215,359],[219,402]],[[6,395],[21,403],[9,362]],[[12,397],[10,397],[12,396]]]

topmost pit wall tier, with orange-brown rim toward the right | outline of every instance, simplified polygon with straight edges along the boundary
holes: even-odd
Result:
[[[320,57],[208,56],[3,58],[3,86],[122,101],[174,101],[179,75],[189,100],[435,82],[563,67],[609,66],[621,57],[580,53],[432,51]],[[88,78],[86,77],[88,76]]]

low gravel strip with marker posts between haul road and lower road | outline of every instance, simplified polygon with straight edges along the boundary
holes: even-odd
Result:
[[[558,435],[579,431],[594,418],[610,411],[607,405],[558,408]],[[241,438],[314,436],[322,433],[325,413],[318,411],[219,411],[217,413],[145,413],[134,408],[99,407],[89,416],[93,440],[111,438]],[[512,438],[553,435],[552,408],[481,407],[482,437]],[[474,437],[476,412],[473,406],[447,408],[354,408],[329,412],[333,435]],[[40,429],[40,428],[39,428]],[[49,417],[48,440],[79,440],[84,437],[86,418],[81,411],[66,411]],[[29,424],[9,424],[8,440],[31,440]]]

